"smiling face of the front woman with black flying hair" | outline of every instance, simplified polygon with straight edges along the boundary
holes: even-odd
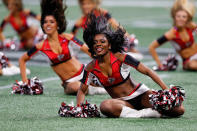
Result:
[[[95,35],[93,48],[96,56],[104,56],[108,53],[110,44],[104,34]]]

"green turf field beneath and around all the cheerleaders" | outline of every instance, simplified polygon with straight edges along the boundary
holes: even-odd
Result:
[[[144,1],[154,2],[156,0]],[[25,6],[39,13],[39,5],[26,4]],[[140,47],[147,47],[151,41],[162,35],[171,26],[170,7],[153,6],[150,8],[143,6],[106,5],[103,5],[103,7],[112,12],[112,15],[128,32],[136,34],[140,41]],[[0,5],[0,20],[6,13],[3,5]],[[73,22],[79,16],[80,10],[76,5],[68,7],[68,32]],[[8,27],[5,30],[5,35],[13,36],[14,32]],[[78,37],[82,39],[81,35],[79,33]],[[164,47],[169,48],[170,45],[166,44]],[[150,58],[145,58],[142,62],[149,67],[154,65]],[[195,98],[197,92],[197,73],[183,71],[181,61],[176,71],[158,72],[158,74],[167,85],[174,84],[184,87],[186,90],[186,100],[184,101],[186,112],[180,118],[159,119],[61,118],[57,114],[61,102],[66,101],[71,103],[73,101],[76,103],[76,96],[65,95],[63,93],[63,88],[60,85],[61,81],[50,66],[28,65],[28,68],[31,70],[31,75],[28,77],[38,76],[41,80],[45,81],[44,94],[40,96],[12,95],[9,85],[14,83],[15,80],[20,80],[20,76],[0,76],[1,131],[195,131],[197,128],[197,99]],[[151,79],[135,70],[131,70],[131,75],[136,81],[145,83],[150,88],[160,89]],[[107,98],[110,97],[108,95],[89,95],[86,97],[91,103],[96,103],[97,105]]]

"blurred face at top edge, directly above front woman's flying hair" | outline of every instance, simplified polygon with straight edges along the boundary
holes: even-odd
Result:
[[[80,7],[81,7],[83,14],[87,15],[96,7],[96,4],[92,0],[83,0],[80,3]]]

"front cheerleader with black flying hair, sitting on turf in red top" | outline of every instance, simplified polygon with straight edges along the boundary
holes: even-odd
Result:
[[[104,87],[112,97],[100,104],[100,111],[108,117],[178,117],[184,114],[183,89],[177,86],[168,89],[154,71],[122,53],[124,29],[113,30],[105,16],[96,17],[93,13],[88,16],[86,26],[83,38],[94,60],[85,68],[77,93],[78,105],[84,103],[88,85],[93,83]],[[130,67],[149,76],[162,90],[153,92],[145,84],[135,82]]]

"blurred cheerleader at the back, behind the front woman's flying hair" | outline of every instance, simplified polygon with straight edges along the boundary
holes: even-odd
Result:
[[[76,35],[80,28],[85,29],[87,16],[92,11],[97,17],[101,14],[104,15],[108,23],[110,23],[114,29],[119,26],[119,23],[111,16],[111,14],[106,9],[100,7],[101,0],[78,0],[78,3],[82,12],[82,16],[75,22],[72,28],[72,34]],[[143,59],[143,55],[135,48],[138,44],[138,40],[136,39],[135,35],[126,33],[125,37],[127,37],[129,42],[125,44],[124,50],[139,60]]]

